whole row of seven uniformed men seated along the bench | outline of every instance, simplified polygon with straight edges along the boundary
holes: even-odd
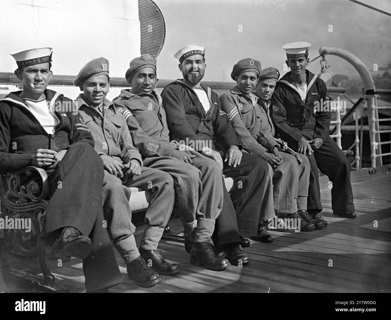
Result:
[[[281,79],[276,68],[241,59],[231,72],[236,85],[220,97],[201,83],[203,45],[175,54],[183,77],[161,95],[156,59],[143,54],[125,73],[131,89],[113,101],[105,58],[81,68],[74,85],[82,93],[72,101],[47,89],[52,48],[12,54],[23,90],[0,100],[0,171],[35,165],[47,172],[42,236],[50,259],[83,259],[86,291],[107,292],[122,282],[113,243],[129,278],[154,286],[160,275],[181,271],[158,250],[175,206],[192,264],[243,267],[248,238],[270,243],[269,230],[326,227],[318,168],[333,184],[333,213],[355,218],[350,163],[328,135],[330,113],[314,107],[328,97],[306,70],[309,47],[283,46],[291,71]],[[76,112],[57,108],[70,102]],[[230,193],[224,176],[233,178]],[[129,187],[148,193],[138,246]]]

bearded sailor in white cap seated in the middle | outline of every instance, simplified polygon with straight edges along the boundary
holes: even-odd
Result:
[[[221,110],[219,97],[200,84],[206,68],[204,46],[192,43],[179,50],[175,57],[179,59],[183,79],[170,83],[161,94],[170,135],[187,145],[210,141],[209,156],[223,164],[224,174],[235,178],[231,198],[224,188],[223,209],[213,235],[213,242],[227,250],[229,258],[231,252],[242,250],[240,243],[246,241],[239,235],[257,235],[262,198],[266,189],[272,188],[271,172],[256,156],[242,154],[230,119]],[[273,216],[262,218],[274,218],[274,212]]]

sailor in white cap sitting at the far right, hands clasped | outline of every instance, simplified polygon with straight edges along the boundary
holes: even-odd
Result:
[[[291,72],[276,85],[272,97],[273,118],[280,137],[288,145],[306,154],[311,164],[307,211],[315,219],[327,222],[319,216],[322,211],[318,178],[319,170],[332,181],[333,213],[345,218],[355,218],[350,162],[329,136],[330,112],[316,106],[328,101],[326,84],[306,70],[309,59],[308,42],[292,42],[282,48],[286,51],[286,63]]]

